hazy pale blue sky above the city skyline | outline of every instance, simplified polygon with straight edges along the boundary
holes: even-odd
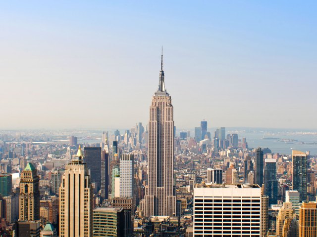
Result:
[[[317,128],[317,1],[1,1],[0,129]]]

